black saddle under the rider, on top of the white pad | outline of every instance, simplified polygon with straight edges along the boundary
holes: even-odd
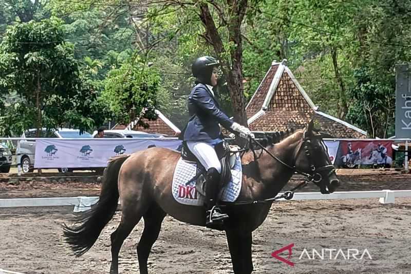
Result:
[[[215,151],[217,157],[220,160],[221,164],[221,181],[220,188],[225,186],[231,180],[231,169],[235,164],[235,154],[230,155],[230,146],[227,142],[222,141],[221,143],[215,146]],[[204,182],[206,182],[207,170],[201,165],[197,157],[190,151],[186,142],[183,142],[181,149],[181,158],[185,161],[195,162],[197,167],[199,167],[200,172],[197,175],[187,182],[189,185],[193,180],[197,180],[197,190],[204,194]]]

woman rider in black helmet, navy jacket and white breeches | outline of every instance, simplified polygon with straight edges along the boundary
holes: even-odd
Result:
[[[197,58],[191,70],[196,78],[191,90],[188,107],[190,120],[180,135],[187,147],[207,170],[206,183],[206,225],[212,226],[228,217],[216,206],[220,187],[221,165],[214,150],[215,145],[222,142],[219,123],[241,137],[252,136],[247,127],[230,120],[219,107],[213,87],[217,86],[218,66],[216,59],[203,56]]]

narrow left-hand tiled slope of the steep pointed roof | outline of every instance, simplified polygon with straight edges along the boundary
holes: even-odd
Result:
[[[264,77],[263,81],[261,81],[260,85],[257,88],[257,91],[253,95],[250,100],[250,103],[246,107],[247,117],[253,116],[257,113],[261,107],[263,106],[264,100],[266,99],[266,95],[268,90],[270,89],[271,82],[274,78],[275,72],[277,72],[278,64],[272,65],[268,70],[266,76]]]

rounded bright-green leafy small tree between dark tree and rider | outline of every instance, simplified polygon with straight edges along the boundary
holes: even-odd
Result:
[[[156,119],[158,72],[134,58],[111,69],[105,80],[102,100],[120,123],[129,123],[140,117]],[[139,124],[146,126],[141,120]]]

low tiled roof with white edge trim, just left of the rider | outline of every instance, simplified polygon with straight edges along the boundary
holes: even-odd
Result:
[[[158,118],[156,120],[148,120],[143,118],[143,121],[148,124],[148,128],[144,129],[144,127],[139,126],[137,124],[137,120],[133,121],[129,124],[116,124],[113,127],[113,130],[135,130],[135,131],[143,131],[147,133],[159,133],[165,134],[169,136],[174,136],[180,133],[180,130],[177,126],[175,126],[169,119],[167,119],[160,111],[156,109],[156,114]]]

